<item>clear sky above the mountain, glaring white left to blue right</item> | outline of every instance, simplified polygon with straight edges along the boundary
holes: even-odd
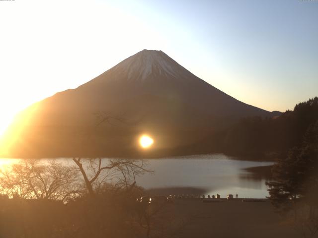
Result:
[[[268,111],[318,96],[318,0],[1,0],[0,22],[0,133],[143,49]]]

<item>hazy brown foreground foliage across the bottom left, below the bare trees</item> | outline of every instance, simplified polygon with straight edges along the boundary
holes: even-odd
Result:
[[[163,238],[185,221],[173,204],[136,201],[143,189],[112,189],[63,204],[49,199],[1,198],[1,238]],[[173,209],[172,209],[173,210]]]

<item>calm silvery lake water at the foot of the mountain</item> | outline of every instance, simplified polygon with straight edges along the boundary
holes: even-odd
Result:
[[[68,164],[74,163],[71,159],[59,160]],[[107,160],[105,158],[103,162],[106,164]],[[12,161],[17,160],[0,159],[0,167]],[[45,162],[45,160],[42,161]],[[206,196],[219,193],[221,197],[226,197],[228,194],[238,193],[239,197],[253,198],[268,196],[265,179],[252,176],[252,173],[245,171],[244,168],[273,164],[273,162],[237,160],[235,157],[223,154],[150,159],[147,163],[148,169],[154,173],[145,174],[136,179],[137,184],[146,189],[169,190],[169,188],[177,187],[191,191],[189,188],[198,188],[200,189],[198,194]]]

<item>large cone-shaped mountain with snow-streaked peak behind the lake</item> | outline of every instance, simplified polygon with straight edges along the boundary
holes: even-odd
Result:
[[[272,117],[153,50],[143,50],[76,89],[30,106],[22,113],[26,114],[29,119],[24,119],[7,157],[182,154],[242,117]],[[155,140],[147,152],[137,144],[143,133]]]

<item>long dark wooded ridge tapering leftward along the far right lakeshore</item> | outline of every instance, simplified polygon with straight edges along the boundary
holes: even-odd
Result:
[[[284,158],[290,148],[301,143],[309,126],[317,120],[318,97],[315,97],[280,116],[239,119],[226,128],[206,132],[206,136],[191,145],[164,153],[169,156],[225,153],[251,160]]]

